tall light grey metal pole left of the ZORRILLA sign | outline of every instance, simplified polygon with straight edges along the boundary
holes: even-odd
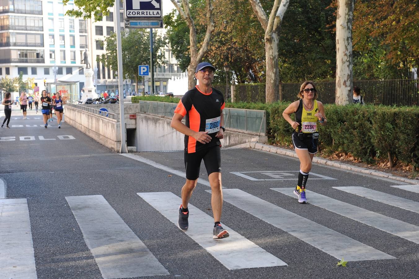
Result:
[[[121,44],[121,18],[119,17],[119,0],[114,4],[116,47],[118,53],[118,94],[119,94],[119,119],[121,122],[121,149],[119,153],[128,153],[127,141],[125,138],[125,115],[124,115],[124,94],[122,93],[122,44]],[[122,93],[122,94],[121,94]],[[121,98],[122,97],[122,98]]]

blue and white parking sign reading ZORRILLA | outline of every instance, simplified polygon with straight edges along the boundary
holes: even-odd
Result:
[[[125,19],[163,18],[162,0],[124,0]]]

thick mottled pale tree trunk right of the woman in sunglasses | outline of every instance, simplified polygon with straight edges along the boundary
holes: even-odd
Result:
[[[336,105],[352,103],[352,18],[354,0],[338,0],[336,15]]]

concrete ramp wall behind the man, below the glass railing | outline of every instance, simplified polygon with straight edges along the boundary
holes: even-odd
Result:
[[[184,134],[170,127],[171,119],[149,114],[137,114],[137,151],[183,150]],[[248,142],[267,142],[267,137],[226,130],[222,147]]]

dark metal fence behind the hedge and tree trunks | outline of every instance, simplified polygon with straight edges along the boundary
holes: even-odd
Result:
[[[318,100],[335,103],[335,82],[315,82]],[[282,101],[295,101],[301,83],[282,83]],[[354,86],[361,88],[365,103],[386,106],[418,106],[419,80],[355,80]],[[264,102],[264,85],[236,85],[236,100]]]

